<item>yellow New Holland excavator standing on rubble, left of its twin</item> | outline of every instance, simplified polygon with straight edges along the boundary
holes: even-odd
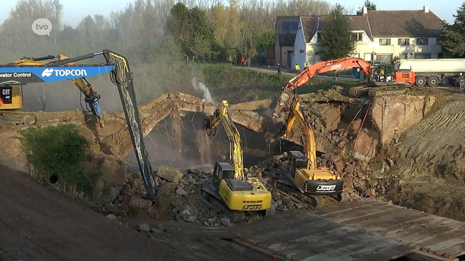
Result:
[[[212,209],[223,212],[231,222],[242,222],[246,212],[259,211],[265,217],[274,214],[272,197],[263,183],[256,177],[244,176],[243,155],[239,130],[229,114],[228,102],[206,117],[208,136],[216,134],[219,123],[223,124],[230,143],[230,161],[216,162],[213,169],[213,184],[200,189],[200,198]]]

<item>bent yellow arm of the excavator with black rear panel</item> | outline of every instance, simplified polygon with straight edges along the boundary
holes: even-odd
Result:
[[[305,155],[307,157],[307,169],[316,170],[317,169],[317,157],[316,157],[316,144],[315,136],[313,135],[312,126],[309,124],[306,114],[302,109],[302,104],[297,97],[294,97],[292,100],[291,111],[287,116],[286,128],[284,130],[284,135],[287,136],[288,133],[291,133],[292,127],[294,126],[295,121],[302,126],[304,131],[304,149]]]

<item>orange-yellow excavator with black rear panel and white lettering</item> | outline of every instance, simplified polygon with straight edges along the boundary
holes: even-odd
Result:
[[[325,205],[326,199],[342,201],[344,182],[328,168],[318,168],[316,144],[312,126],[302,105],[294,95],[281,137],[292,133],[295,122],[303,128],[305,154],[298,150],[288,151],[286,179],[278,180],[275,187],[295,202],[308,203],[312,209]]]

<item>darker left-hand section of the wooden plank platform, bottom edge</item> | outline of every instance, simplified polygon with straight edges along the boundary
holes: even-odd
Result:
[[[292,261],[388,261],[415,250],[300,210],[229,230],[242,241]]]

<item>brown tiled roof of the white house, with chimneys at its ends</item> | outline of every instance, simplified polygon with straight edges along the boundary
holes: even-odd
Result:
[[[431,11],[395,10],[368,11],[374,36],[439,37],[443,21]]]

